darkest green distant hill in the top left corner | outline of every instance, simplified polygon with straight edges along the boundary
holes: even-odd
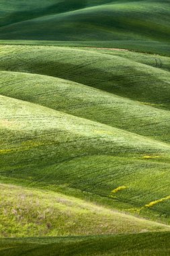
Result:
[[[0,26],[6,26],[24,20],[38,18],[42,15],[73,11],[88,6],[109,3],[110,0],[36,0],[36,1],[4,1],[0,3],[1,19]]]

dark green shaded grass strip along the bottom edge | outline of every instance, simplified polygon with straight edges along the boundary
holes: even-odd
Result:
[[[0,241],[0,248],[2,256],[168,256],[169,236],[169,232],[160,232],[119,236],[3,239]]]

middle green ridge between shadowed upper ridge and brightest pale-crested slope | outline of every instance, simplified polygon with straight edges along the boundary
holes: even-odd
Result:
[[[0,94],[170,142],[170,113],[155,108],[155,104],[129,100],[65,79],[11,71],[0,71]]]

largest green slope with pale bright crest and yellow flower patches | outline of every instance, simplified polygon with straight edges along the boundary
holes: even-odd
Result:
[[[0,117],[3,181],[90,192],[169,222],[168,144],[4,96]]]

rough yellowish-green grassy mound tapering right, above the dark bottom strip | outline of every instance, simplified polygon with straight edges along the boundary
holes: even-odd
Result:
[[[169,226],[60,193],[3,184],[0,191],[1,237],[170,231]]]

